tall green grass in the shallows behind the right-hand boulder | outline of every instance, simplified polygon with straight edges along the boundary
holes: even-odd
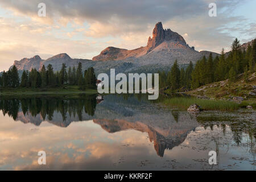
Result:
[[[220,100],[201,100],[195,97],[174,97],[168,98],[163,101],[163,104],[176,106],[179,109],[188,109],[192,104],[197,104],[201,106],[203,110],[224,110],[232,111],[239,109],[239,105],[232,101],[220,101]]]

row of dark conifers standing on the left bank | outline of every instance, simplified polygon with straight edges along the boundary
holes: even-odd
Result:
[[[23,88],[46,88],[62,85],[78,85],[79,89],[86,88],[96,89],[96,75],[92,67],[82,72],[82,64],[68,68],[63,63],[60,71],[53,72],[52,65],[49,64],[47,69],[42,67],[40,71],[35,68],[30,72],[23,71],[21,81],[19,79],[18,69],[15,65],[7,72],[3,72],[0,77],[0,86],[2,87],[23,87]]]

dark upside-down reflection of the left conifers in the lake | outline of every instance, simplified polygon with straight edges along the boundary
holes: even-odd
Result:
[[[24,115],[30,113],[32,117],[40,114],[45,120],[46,116],[49,121],[52,120],[55,111],[61,113],[63,121],[69,116],[78,115],[82,120],[83,110],[88,115],[93,116],[96,110],[97,100],[95,95],[88,95],[82,98],[61,98],[61,97],[32,97],[32,98],[2,98],[0,100],[0,110],[3,115],[8,114],[15,120],[19,109]]]

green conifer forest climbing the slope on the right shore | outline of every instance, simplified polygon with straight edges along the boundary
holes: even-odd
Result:
[[[243,74],[245,82],[248,81],[248,73],[256,70],[256,40],[253,46],[248,46],[247,50],[241,48],[240,41],[235,39],[232,43],[232,50],[225,55],[224,49],[221,55],[213,58],[203,57],[195,65],[189,63],[186,69],[179,68],[177,61],[172,65],[169,72],[159,72],[160,88],[171,87],[171,90],[191,90],[212,82],[228,79],[232,82],[237,80],[237,75]]]

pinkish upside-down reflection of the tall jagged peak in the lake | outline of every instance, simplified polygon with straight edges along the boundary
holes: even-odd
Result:
[[[133,117],[131,117],[131,120],[133,120]],[[187,134],[197,126],[196,118],[187,113],[180,114],[177,122],[173,117],[167,118],[166,121],[155,120],[154,122],[148,119],[140,121],[93,119],[93,122],[101,125],[102,129],[109,133],[129,129],[148,133],[150,142],[154,142],[156,153],[159,156],[164,155],[164,150],[171,150],[182,143]]]

